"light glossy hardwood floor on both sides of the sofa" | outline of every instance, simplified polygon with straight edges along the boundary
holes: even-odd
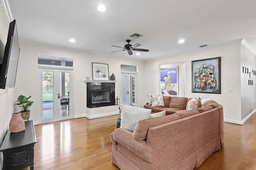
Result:
[[[110,132],[119,115],[36,125],[35,170],[118,170]],[[195,170],[255,170],[256,114],[243,126],[224,123],[224,148]],[[23,168],[22,170],[29,170]]]

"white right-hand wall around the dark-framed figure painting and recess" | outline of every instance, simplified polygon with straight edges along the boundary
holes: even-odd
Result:
[[[192,66],[191,61],[221,57],[221,94],[192,93]],[[146,61],[145,63],[145,93],[159,93],[160,69],[163,63],[184,61],[186,64],[185,97],[210,98],[223,105],[226,122],[241,123],[241,85],[240,85],[240,43],[206,49],[165,59]],[[238,77],[238,78],[236,78]],[[180,83],[181,84],[181,83]],[[233,93],[227,93],[232,89]]]

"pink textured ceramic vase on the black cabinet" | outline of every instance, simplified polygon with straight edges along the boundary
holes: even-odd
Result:
[[[12,133],[22,132],[25,130],[25,122],[21,117],[21,113],[12,113],[9,129]]]

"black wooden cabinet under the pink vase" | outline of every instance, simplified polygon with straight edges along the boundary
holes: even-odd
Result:
[[[25,121],[25,130],[12,133],[8,129],[0,151],[4,156],[4,170],[18,170],[30,166],[34,169],[36,134],[33,121]]]

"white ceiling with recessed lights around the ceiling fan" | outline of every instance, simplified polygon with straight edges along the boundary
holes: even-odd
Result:
[[[256,49],[256,0],[9,0],[20,42],[154,59],[246,39]],[[102,4],[105,12],[97,7]],[[143,36],[131,38],[138,33]],[[69,39],[75,39],[71,43]],[[149,49],[128,55],[123,47]],[[178,41],[184,39],[180,44]],[[204,47],[203,49],[209,48]],[[110,53],[118,51],[116,53]],[[72,56],[70,56],[72,57]]]

